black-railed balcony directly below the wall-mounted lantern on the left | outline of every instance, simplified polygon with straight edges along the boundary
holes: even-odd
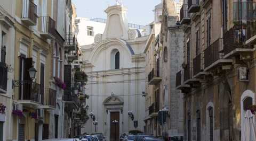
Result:
[[[19,89],[19,100],[18,103],[21,103],[28,107],[37,108],[40,104],[40,84],[33,83],[25,83],[20,85]]]

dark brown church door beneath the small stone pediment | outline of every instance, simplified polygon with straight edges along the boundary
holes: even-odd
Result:
[[[117,121],[114,123],[113,121]],[[119,121],[120,113],[119,112],[110,112],[110,141],[119,140]]]

